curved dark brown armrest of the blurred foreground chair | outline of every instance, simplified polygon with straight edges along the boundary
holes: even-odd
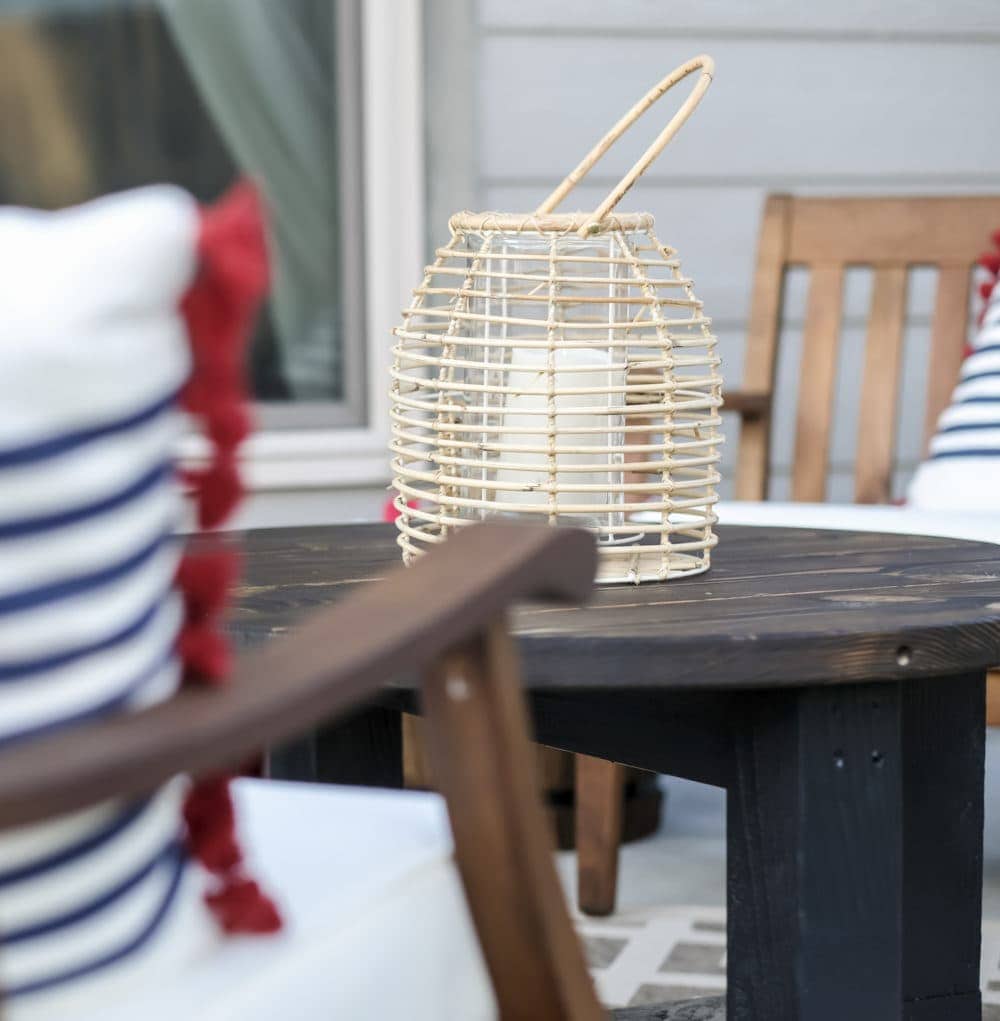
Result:
[[[482,632],[513,601],[582,601],[596,568],[576,529],[484,524],[243,658],[229,684],[0,752],[0,829],[232,767],[373,697]]]

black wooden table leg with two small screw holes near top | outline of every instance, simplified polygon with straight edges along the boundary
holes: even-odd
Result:
[[[760,692],[727,798],[730,1021],[900,1021],[895,685]]]

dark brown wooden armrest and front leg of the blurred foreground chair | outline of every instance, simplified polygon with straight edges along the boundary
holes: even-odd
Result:
[[[233,767],[372,698],[394,675],[420,671],[457,862],[501,1016],[597,1021],[606,1015],[556,875],[505,618],[523,597],[584,599],[594,568],[593,541],[581,531],[462,531],[414,568],[246,657],[228,686],[185,688],[153,709],[4,749],[0,828],[141,795],[178,772]]]

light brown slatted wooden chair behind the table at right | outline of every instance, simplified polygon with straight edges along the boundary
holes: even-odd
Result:
[[[888,503],[896,454],[896,408],[906,317],[907,272],[938,271],[931,328],[927,392],[921,395],[924,443],[958,379],[968,329],[972,266],[1000,227],[1000,196],[940,198],[799,198],[771,195],[764,205],[754,270],[744,382],[724,394],[724,409],[740,416],[735,497],[768,498],[772,411],[784,282],[792,268],[810,274],[802,338],[792,498],[826,498],[844,275],[873,273],[860,397],[854,498]],[[1000,675],[990,678],[1000,694]],[[1000,723],[1000,698],[991,723]],[[578,770],[579,900],[583,911],[614,910],[617,839],[612,829],[621,799],[617,768],[602,762]],[[601,824],[586,820],[603,821]]]

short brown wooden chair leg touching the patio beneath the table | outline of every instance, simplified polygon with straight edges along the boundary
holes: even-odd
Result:
[[[623,797],[621,766],[576,757],[576,897],[587,915],[615,910]]]

